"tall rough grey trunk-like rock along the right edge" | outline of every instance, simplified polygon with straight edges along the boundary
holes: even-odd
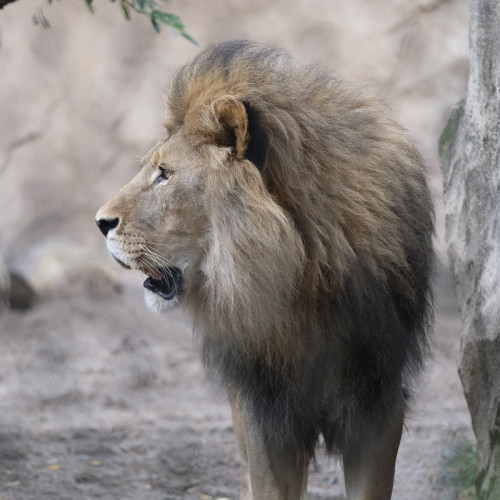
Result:
[[[440,140],[446,239],[463,320],[459,373],[478,441],[476,488],[500,498],[500,2],[470,3],[467,95]]]

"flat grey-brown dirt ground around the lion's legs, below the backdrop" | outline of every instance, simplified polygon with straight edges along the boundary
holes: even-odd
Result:
[[[470,430],[447,279],[395,499],[458,498],[446,464]],[[85,288],[2,317],[0,499],[237,498],[229,406],[204,376],[190,327],[180,314],[148,313],[136,284]],[[340,466],[320,457],[309,492],[344,498]]]

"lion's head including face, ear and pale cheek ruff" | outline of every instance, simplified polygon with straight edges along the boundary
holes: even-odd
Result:
[[[164,138],[97,224],[111,255],[147,276],[151,309],[181,304],[225,330],[268,331],[296,298],[303,241],[266,188],[268,136],[246,94],[213,74],[204,83],[197,95],[183,88],[177,115],[188,97],[174,87]]]

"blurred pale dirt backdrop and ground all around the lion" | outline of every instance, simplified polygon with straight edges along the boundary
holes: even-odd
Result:
[[[198,48],[113,4],[0,11],[0,255],[38,294],[0,312],[0,500],[236,499],[229,406],[182,312],[154,316],[142,278],[107,256],[93,217],[155,141],[161,93]],[[253,38],[375,88],[418,141],[436,201],[433,358],[398,457],[394,498],[457,500],[448,463],[472,437],[457,375],[460,318],[444,251],[439,131],[467,81],[458,0],[172,1],[201,46]],[[323,457],[309,498],[343,499]]]

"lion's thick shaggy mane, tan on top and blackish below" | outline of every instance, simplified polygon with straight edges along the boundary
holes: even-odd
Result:
[[[167,108],[167,129],[206,158],[212,232],[193,308],[207,365],[268,439],[312,450],[320,430],[341,452],[428,349],[421,156],[364,90],[250,42],[184,66]],[[226,109],[248,130],[228,128]]]

